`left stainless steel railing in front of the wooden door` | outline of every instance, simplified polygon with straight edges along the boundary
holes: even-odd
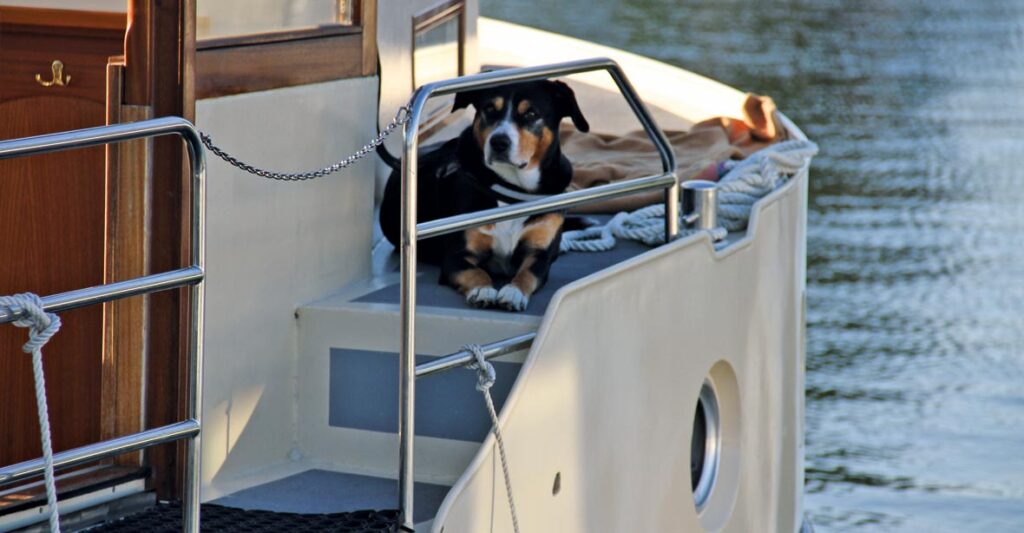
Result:
[[[54,455],[54,468],[71,467],[139,450],[156,444],[188,439],[185,453],[184,494],[181,498],[182,530],[199,531],[200,428],[203,383],[203,265],[206,254],[206,156],[199,132],[188,121],[167,117],[129,124],[100,126],[83,130],[52,133],[0,142],[0,160],[48,153],[74,148],[111,144],[126,140],[178,135],[187,146],[191,172],[191,266],[150,274],[134,279],[70,291],[43,298],[46,311],[57,312],[78,307],[120,300],[185,285],[191,286],[188,357],[188,418],[177,424],[118,437]],[[2,179],[2,178],[0,178]],[[24,311],[0,312],[0,323],[16,320]],[[42,472],[41,459],[20,462],[0,469],[0,483],[15,481]]]

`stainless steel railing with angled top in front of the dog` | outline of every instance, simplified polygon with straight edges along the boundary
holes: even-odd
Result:
[[[628,182],[613,183],[548,198],[499,207],[478,213],[459,215],[417,224],[417,151],[419,148],[420,121],[427,99],[432,96],[453,94],[468,89],[483,89],[498,85],[542,80],[593,71],[605,71],[611,76],[618,91],[633,109],[647,132],[662,159],[663,173]],[[594,58],[564,63],[507,69],[482,73],[453,80],[424,85],[413,95],[409,122],[404,129],[404,150],[401,159],[401,237],[398,349],[398,509],[400,527],[414,530],[413,521],[413,440],[415,437],[416,400],[416,242],[444,233],[467,229],[481,224],[523,217],[546,211],[567,209],[599,199],[612,198],[644,190],[664,188],[665,234],[673,239],[679,225],[679,179],[675,175],[676,158],[665,134],[654,123],[647,108],[637,96],[622,69],[611,59]],[[428,372],[429,373],[429,372]]]

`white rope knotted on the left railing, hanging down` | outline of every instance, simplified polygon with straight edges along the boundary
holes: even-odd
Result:
[[[14,321],[14,325],[29,328],[29,342],[22,350],[32,354],[32,373],[36,382],[36,408],[39,411],[39,436],[43,445],[43,478],[46,483],[46,503],[49,508],[50,532],[60,533],[60,517],[57,513],[57,488],[53,481],[53,448],[50,445],[50,416],[46,408],[46,379],[43,375],[43,346],[60,329],[60,317],[43,310],[43,301],[36,295],[26,293],[0,297],[0,308],[10,313],[24,311],[25,316]]]

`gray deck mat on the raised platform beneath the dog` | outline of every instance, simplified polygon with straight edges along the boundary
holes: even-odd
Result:
[[[608,252],[569,252],[568,254],[562,254],[551,266],[551,274],[547,284],[530,298],[525,313],[535,316],[543,315],[544,311],[548,308],[548,303],[551,302],[551,297],[565,284],[649,250],[651,249],[642,243],[620,239],[615,248]],[[436,266],[421,263],[419,272],[419,283],[417,283],[416,287],[416,302],[418,305],[455,309],[469,308],[459,293],[450,286],[441,285],[437,282],[440,270]],[[355,299],[355,302],[397,304],[398,283],[396,282],[364,295]]]

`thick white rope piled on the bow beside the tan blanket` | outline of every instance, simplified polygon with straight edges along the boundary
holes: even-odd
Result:
[[[720,227],[708,230],[712,238],[722,240],[729,231],[745,229],[754,204],[785,183],[817,152],[817,144],[811,141],[788,140],[758,150],[743,161],[726,162],[723,168],[727,172],[717,187]],[[684,229],[680,236],[700,231]],[[649,247],[665,242],[665,205],[624,211],[603,226],[566,231],[561,252],[605,252],[615,248],[620,238]]]

